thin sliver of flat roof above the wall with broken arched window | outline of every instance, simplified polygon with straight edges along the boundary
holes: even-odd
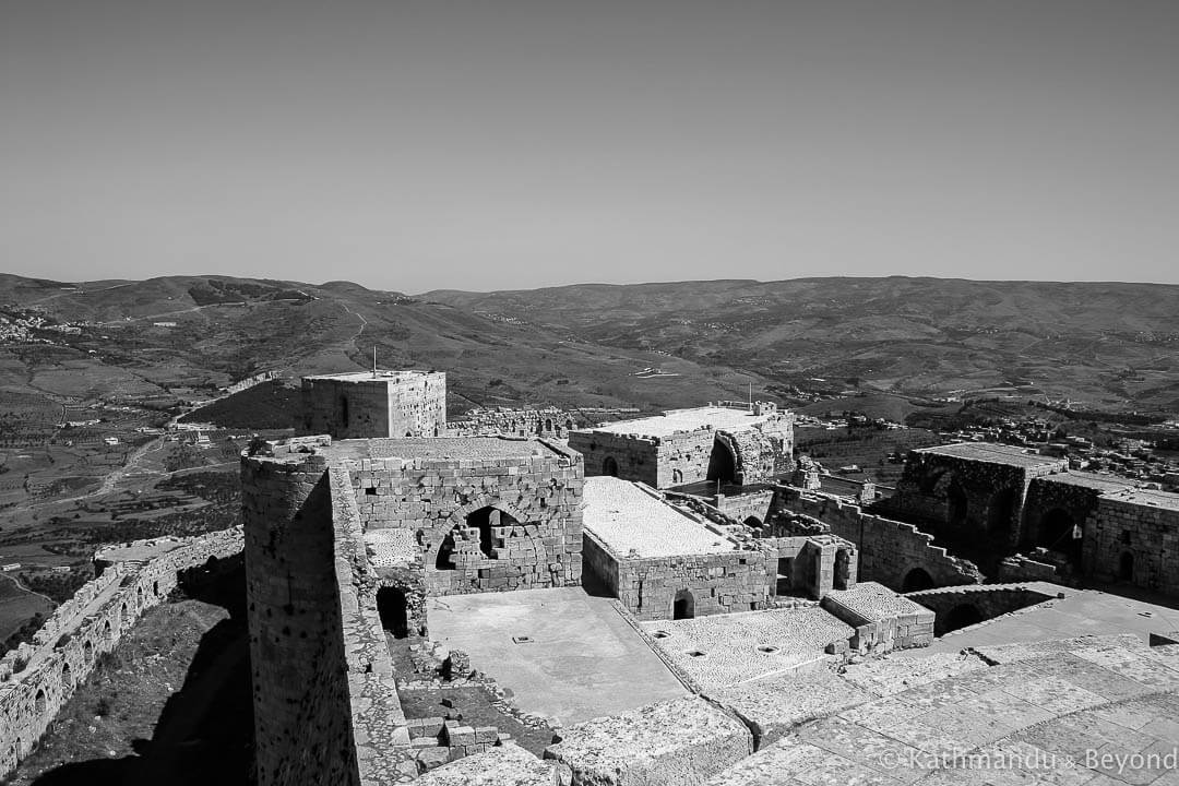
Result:
[[[334,458],[423,458],[426,461],[480,461],[498,458],[553,458],[565,454],[539,440],[512,437],[390,437],[334,440],[324,453]]]

